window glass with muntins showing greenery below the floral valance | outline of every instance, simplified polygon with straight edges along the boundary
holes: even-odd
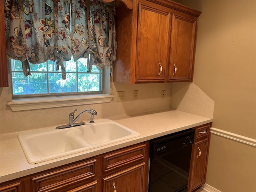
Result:
[[[13,98],[103,92],[102,71],[93,66],[92,72],[87,73],[87,58],[80,58],[76,62],[72,58],[63,62],[66,80],[61,78],[61,69],[56,70],[56,62],[50,60],[42,64],[30,64],[31,76],[28,77],[24,76],[20,61],[10,60],[10,63]]]

